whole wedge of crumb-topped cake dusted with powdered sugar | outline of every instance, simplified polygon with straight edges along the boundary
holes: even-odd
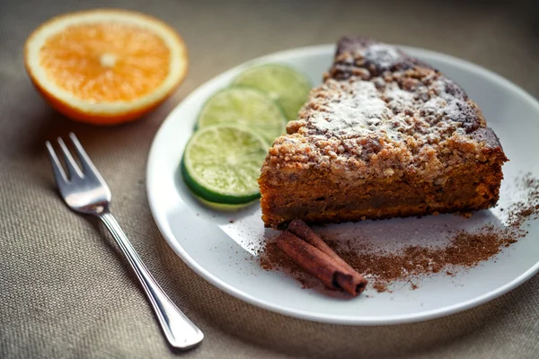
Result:
[[[508,159],[481,110],[436,69],[371,39],[333,66],[261,169],[262,219],[339,223],[494,206]]]

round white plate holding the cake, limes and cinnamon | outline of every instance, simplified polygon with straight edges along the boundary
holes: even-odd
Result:
[[[460,83],[482,108],[490,127],[510,159],[504,165],[500,206],[510,199],[511,181],[522,171],[539,176],[539,103],[529,94],[480,66],[455,57],[419,48],[404,48],[412,56],[439,68]],[[220,74],[192,92],[163,122],[155,136],[147,165],[147,193],[155,222],[172,249],[200,276],[245,302],[305,320],[340,324],[392,324],[428,320],[463,311],[506,293],[522,284],[539,268],[539,221],[529,235],[503,250],[496,260],[460,271],[456,276],[431,276],[420,286],[395,285],[393,293],[368,289],[353,300],[337,299],[314,290],[301,289],[292,278],[261,269],[254,250],[265,235],[260,206],[239,212],[218,212],[201,206],[178,175],[183,147],[192,134],[199,109],[212,93],[224,88],[244,68],[265,62],[282,62],[320,83],[331,65],[334,46],[298,48],[261,57]],[[398,248],[405,243],[443,241],[445,225],[470,228],[501,215],[482,211],[466,220],[455,215],[421,219],[393,219],[340,224],[339,229],[358,229],[372,241]],[[234,223],[231,223],[231,220]],[[331,232],[330,226],[325,229]],[[367,295],[368,294],[368,297]]]

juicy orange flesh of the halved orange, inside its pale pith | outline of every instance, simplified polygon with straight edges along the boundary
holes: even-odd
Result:
[[[47,39],[40,66],[49,80],[84,101],[132,101],[169,73],[163,39],[121,23],[72,25]]]

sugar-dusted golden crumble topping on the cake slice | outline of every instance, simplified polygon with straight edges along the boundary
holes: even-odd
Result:
[[[344,176],[415,171],[434,180],[442,162],[499,148],[489,133],[481,110],[436,69],[390,45],[345,38],[269,160],[290,171],[321,165]]]

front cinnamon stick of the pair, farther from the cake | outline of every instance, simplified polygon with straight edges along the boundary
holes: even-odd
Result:
[[[297,265],[320,279],[324,285],[333,289],[342,289],[353,296],[363,292],[367,280],[355,270],[342,266],[322,250],[302,241],[292,232],[282,232],[277,239],[277,246],[292,258]]]

